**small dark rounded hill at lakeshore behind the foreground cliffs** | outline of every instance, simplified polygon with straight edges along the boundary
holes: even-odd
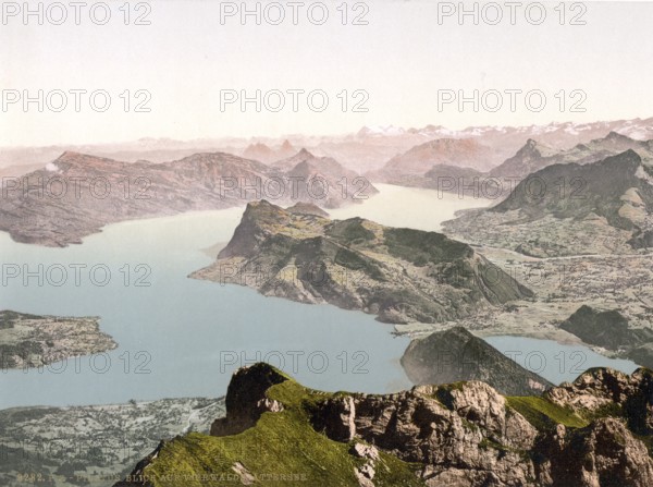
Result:
[[[482,380],[506,395],[540,395],[553,386],[463,327],[412,340],[402,366],[420,385]]]

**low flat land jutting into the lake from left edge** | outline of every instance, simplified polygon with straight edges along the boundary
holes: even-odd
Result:
[[[100,318],[39,316],[0,311],[0,368],[40,367],[69,357],[113,350]]]

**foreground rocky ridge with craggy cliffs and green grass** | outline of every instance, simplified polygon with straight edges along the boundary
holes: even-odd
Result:
[[[183,476],[199,486],[195,478],[229,473],[279,485],[262,474],[283,472],[310,485],[646,487],[652,374],[593,369],[540,398],[504,397],[480,381],[370,395],[312,391],[257,364],[236,373],[229,392],[249,429],[162,443],[118,485],[172,486]],[[279,406],[261,415],[264,400]],[[238,431],[241,416],[223,423]]]

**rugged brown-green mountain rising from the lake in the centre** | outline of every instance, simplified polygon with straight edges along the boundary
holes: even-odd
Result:
[[[217,261],[192,277],[395,324],[445,321],[532,295],[469,245],[441,233],[330,220],[264,200],[247,206]]]

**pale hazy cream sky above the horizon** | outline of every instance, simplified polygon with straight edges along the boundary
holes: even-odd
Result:
[[[32,3],[34,9],[37,3]],[[108,1],[111,17],[104,25],[91,20],[90,7],[97,2],[81,8],[81,25],[75,25],[75,10],[63,1],[67,19],[53,25],[62,12],[59,7],[47,11],[50,3],[45,2],[44,25],[38,25],[36,15],[24,25],[23,12],[12,16],[11,2],[1,3],[5,11],[0,23],[0,145],[340,134],[372,124],[461,129],[653,115],[653,3],[567,2],[564,25],[560,8],[554,10],[557,1],[543,2],[546,17],[540,25],[529,22],[538,21],[540,9],[527,1],[516,8],[515,25],[505,2],[484,10],[486,2],[481,2],[479,25],[472,15],[464,17],[463,25],[456,14],[439,17],[439,9],[444,13],[457,9],[458,2],[324,1],[329,19],[323,25],[313,23],[322,9],[311,1],[297,7],[297,25],[288,2],[267,9],[268,17],[275,20],[279,7],[283,8],[286,17],[280,25],[270,25],[264,15],[261,25],[255,16],[243,25],[239,15],[221,23],[221,2],[187,0],[155,1],[149,8],[137,1]],[[125,3],[130,25],[119,10]],[[247,2],[252,10],[256,3]],[[261,3],[262,14],[268,3]],[[503,20],[489,25],[483,16],[494,21],[496,5]],[[467,3],[467,9],[472,8]],[[343,10],[348,11],[347,25],[342,25]],[[150,25],[133,25],[143,13]],[[365,14],[368,25],[350,25],[357,14]],[[577,14],[586,25],[569,25]],[[102,5],[96,7],[93,19],[100,22],[103,15]],[[64,92],[66,108],[54,112],[45,100],[42,112],[36,102],[25,111],[22,99],[11,102],[16,94],[23,98],[24,90],[38,97],[39,89],[44,98],[49,95],[54,109],[61,105],[58,90]],[[78,95],[79,112],[71,89],[87,90]],[[120,96],[125,89],[130,90],[128,112],[125,96]],[[135,97],[139,89],[151,95],[146,104],[150,112],[134,111],[135,104],[145,99],[144,94]],[[239,104],[233,104],[221,109],[221,90],[247,90],[255,96],[257,89],[282,92],[285,108],[272,112],[262,106],[257,112],[249,104],[243,112]],[[323,90],[329,96],[325,110],[311,110],[306,94],[299,94],[294,112],[293,95],[287,92],[294,89]],[[349,104],[343,112],[342,95],[337,95],[345,89]],[[485,94],[485,108],[481,105],[475,111],[471,102],[463,110],[456,102],[439,107],[439,90],[472,96],[475,89],[479,96]],[[514,112],[506,89],[522,92],[515,95]],[[88,94],[94,90],[110,95],[107,111],[90,107]],[[353,112],[354,102],[362,99],[361,94],[353,97],[355,90],[369,94],[367,112]],[[497,101],[491,90],[503,98],[503,108],[495,112],[489,110]],[[540,90],[530,99],[532,109],[523,96],[529,90]],[[560,90],[566,99],[563,111]],[[587,99],[582,101],[580,93],[572,97],[574,90],[582,90]],[[535,112],[540,93],[546,101]],[[571,112],[574,101],[582,101],[579,108],[586,111]],[[97,107],[102,102],[102,95],[97,95]],[[270,94],[268,105],[274,108],[278,102],[279,97]],[[315,107],[320,102],[316,95]]]

